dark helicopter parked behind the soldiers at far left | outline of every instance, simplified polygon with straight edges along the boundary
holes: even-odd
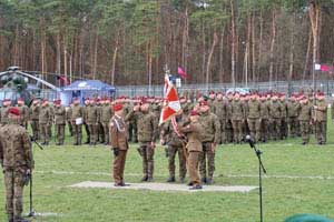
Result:
[[[13,105],[19,98],[22,98],[24,104],[30,107],[32,100],[41,95],[40,84],[59,91],[59,88],[31,73],[21,71],[19,67],[9,67],[7,71],[0,72],[0,107],[4,99],[10,99]]]

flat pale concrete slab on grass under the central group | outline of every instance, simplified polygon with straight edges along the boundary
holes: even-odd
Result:
[[[70,188],[86,189],[115,189],[115,190],[150,190],[176,192],[250,192],[258,186],[248,185],[204,185],[202,190],[189,190],[186,184],[177,183],[127,183],[128,186],[114,186],[110,182],[85,181],[70,185]]]

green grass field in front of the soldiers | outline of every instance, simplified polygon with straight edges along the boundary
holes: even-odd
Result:
[[[296,213],[334,218],[334,128],[328,122],[328,144],[301,145],[299,139],[259,144],[267,168],[264,179],[265,221],[284,221]],[[52,143],[55,144],[55,142]],[[72,144],[72,141],[67,141]],[[141,161],[131,145],[126,181],[138,182]],[[82,181],[111,182],[112,155],[100,145],[33,148],[35,210],[50,213],[33,221],[66,222],[255,222],[258,220],[258,190],[249,193],[183,193],[72,189]],[[155,181],[168,176],[164,149],[155,155]],[[223,145],[216,154],[215,184],[257,185],[257,159],[248,144]],[[318,176],[318,178],[314,178]],[[3,178],[0,178],[0,221],[6,221]],[[29,189],[24,190],[24,212],[29,211]],[[55,214],[52,214],[55,213]]]

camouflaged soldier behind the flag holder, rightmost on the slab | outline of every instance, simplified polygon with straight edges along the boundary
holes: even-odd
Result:
[[[210,112],[207,101],[200,102],[199,123],[203,128],[203,152],[199,155],[199,172],[202,182],[212,184],[214,182],[216,145],[220,138],[220,123],[217,115]]]

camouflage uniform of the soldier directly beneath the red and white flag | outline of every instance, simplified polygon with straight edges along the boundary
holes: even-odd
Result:
[[[183,120],[185,117],[181,115],[176,118],[176,121],[179,124],[183,124]],[[179,180],[184,182],[187,173],[187,163],[186,163],[186,150],[184,142],[178,138],[176,132],[173,129],[171,121],[166,122],[163,125],[160,138],[164,139],[166,144],[168,145],[168,171],[169,171],[169,179],[167,182],[175,181],[175,158],[176,153],[178,153],[179,160]]]

